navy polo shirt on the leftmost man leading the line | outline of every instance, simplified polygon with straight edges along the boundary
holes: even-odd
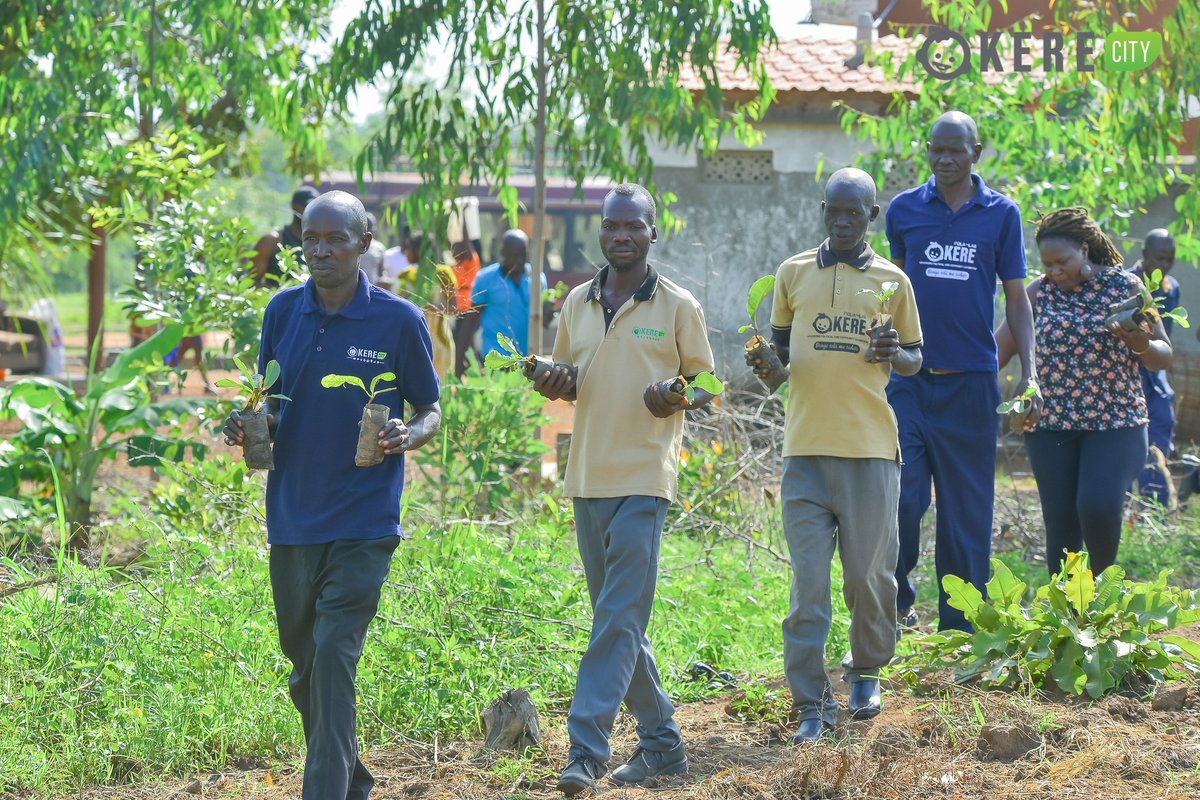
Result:
[[[404,403],[438,401],[433,344],[421,312],[407,300],[371,285],[359,270],[354,299],[326,314],[312,281],[271,297],[263,314],[259,369],[280,362],[271,393],[281,401],[275,431],[275,469],[266,477],[266,541],[322,545],[341,539],[402,535],[400,494],[404,457],[355,467],[359,421],[367,396],[356,386],[325,389],[328,374],[358,375],[366,386],[383,372],[396,386],[376,397],[391,417]]]

